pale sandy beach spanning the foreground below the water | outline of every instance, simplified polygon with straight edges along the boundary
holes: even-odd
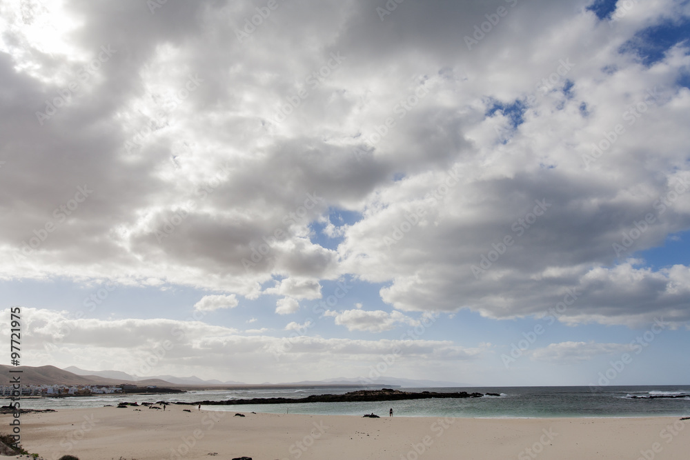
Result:
[[[21,443],[44,459],[687,460],[678,417],[443,419],[95,408],[23,414]],[[384,414],[380,414],[384,415]],[[11,416],[3,415],[7,426]],[[7,431],[7,430],[4,430]],[[643,456],[644,452],[644,456]]]

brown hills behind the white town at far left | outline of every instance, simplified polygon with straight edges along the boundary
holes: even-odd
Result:
[[[77,375],[72,374],[66,370],[56,368],[55,366],[39,366],[37,368],[31,366],[6,366],[0,365],[0,385],[9,385],[13,374],[10,374],[10,369],[21,370],[22,385],[119,385],[120,383],[129,383],[137,386],[177,386],[174,383],[166,382],[161,379],[146,379],[140,381],[130,381],[121,379],[106,379],[105,377],[98,377],[96,375]],[[20,374],[14,374],[14,376]]]

